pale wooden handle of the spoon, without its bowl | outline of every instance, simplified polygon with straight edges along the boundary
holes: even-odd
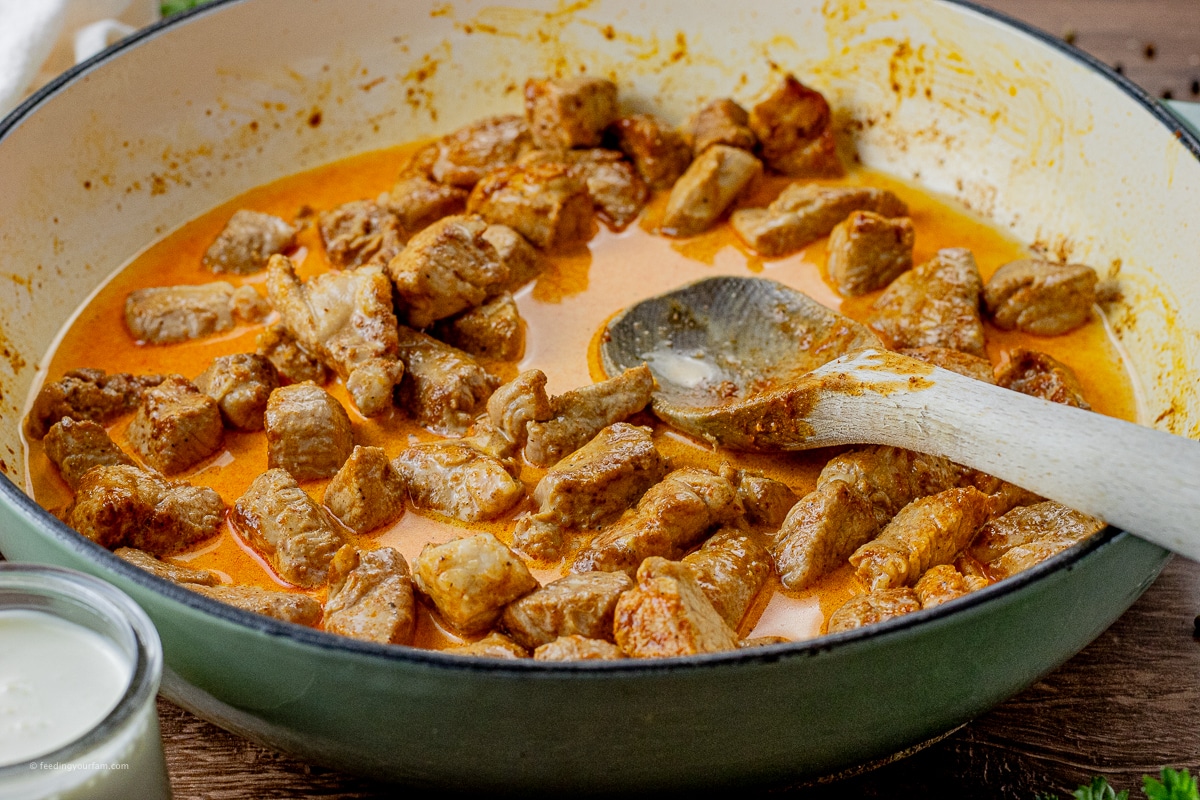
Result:
[[[1200,561],[1198,441],[894,353],[844,356],[820,373],[848,379],[804,415],[822,444],[943,456]]]

